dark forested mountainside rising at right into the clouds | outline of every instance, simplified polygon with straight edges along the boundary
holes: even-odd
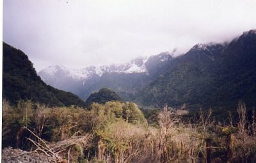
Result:
[[[235,108],[239,99],[255,107],[256,32],[244,32],[229,45],[195,45],[142,89],[142,106]]]

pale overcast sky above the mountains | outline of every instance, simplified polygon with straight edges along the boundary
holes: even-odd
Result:
[[[3,41],[36,71],[186,52],[256,28],[255,0],[4,0]]]

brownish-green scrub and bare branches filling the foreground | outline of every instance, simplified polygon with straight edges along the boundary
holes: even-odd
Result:
[[[155,118],[152,118],[155,117]],[[255,113],[237,106],[237,120],[215,122],[209,111],[184,120],[164,106],[144,118],[134,103],[48,108],[3,101],[3,146],[36,150],[67,162],[255,162]]]

